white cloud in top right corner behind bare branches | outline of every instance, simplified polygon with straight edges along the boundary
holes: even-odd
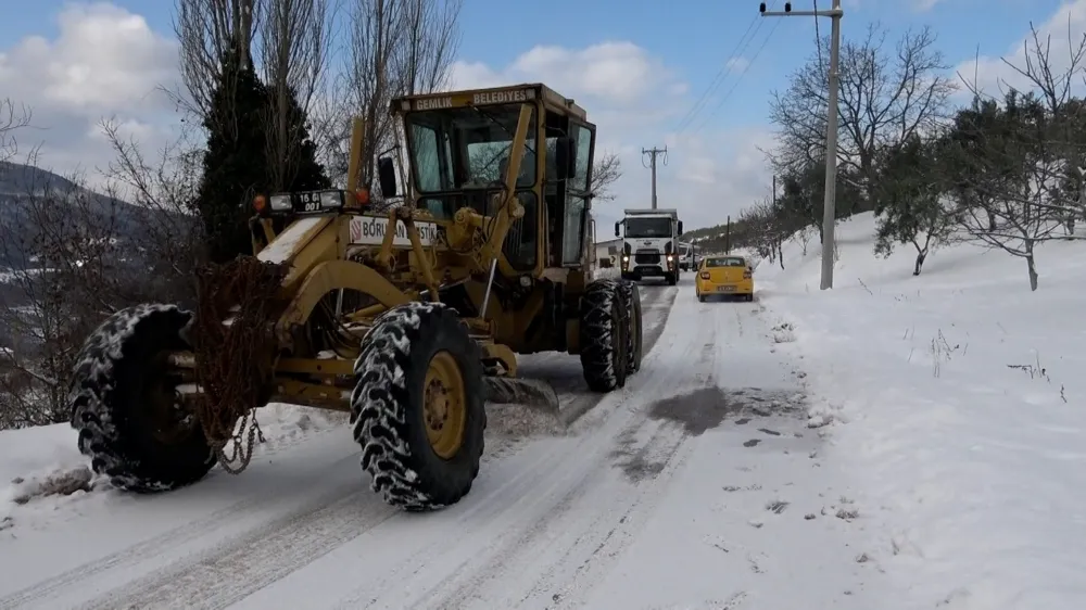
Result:
[[[1028,24],[1023,24],[1028,27]],[[1071,48],[1077,48],[1086,34],[1086,0],[1072,0],[1064,2],[1057,9],[1045,23],[1037,25],[1037,36],[1041,48],[1049,47],[1049,63],[1053,72],[1053,77],[1060,78],[1071,64]],[[1033,36],[1026,31],[1023,37],[1008,49],[1002,56],[982,55],[961,62],[957,66],[957,75],[964,79],[970,86],[975,81],[976,89],[987,96],[1000,98],[1002,91],[1009,88],[1019,90],[1032,90],[1030,79],[1020,74],[1012,66],[1025,68],[1026,58],[1035,60],[1033,52],[1028,52],[1034,45]],[[1003,61],[1006,60],[1006,62]],[[1011,65],[1007,65],[1010,63]],[[1081,72],[1086,64],[1079,63],[1077,69]],[[957,76],[956,75],[956,76]],[[1082,78],[1072,77],[1074,92],[1082,93]],[[972,97],[969,87],[962,87],[957,96],[959,101],[968,100]]]

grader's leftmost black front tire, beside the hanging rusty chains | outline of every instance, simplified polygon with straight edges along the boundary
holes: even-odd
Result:
[[[146,392],[165,369],[163,351],[189,350],[192,314],[174,305],[122,309],[87,338],[76,358],[68,403],[79,453],[114,487],[156,493],[195,483],[215,466],[200,425],[179,444],[154,437]]]

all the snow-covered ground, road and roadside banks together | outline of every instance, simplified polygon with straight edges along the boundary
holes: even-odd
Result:
[[[754,303],[642,287],[643,370],[605,396],[523,359],[565,431],[492,411],[460,504],[368,490],[337,415],[270,405],[239,476],[96,483],[66,424],[0,432],[0,609],[1081,610],[1086,244],[873,254],[838,225],[763,260]],[[9,482],[12,482],[9,484]]]

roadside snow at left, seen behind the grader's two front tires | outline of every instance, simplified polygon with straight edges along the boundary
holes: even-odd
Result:
[[[256,455],[346,425],[345,414],[281,403],[258,409],[256,420],[264,433]],[[67,423],[0,431],[0,532],[16,525],[46,524],[51,513],[63,512],[67,505],[81,501],[92,492],[111,490],[90,470],[76,439]]]

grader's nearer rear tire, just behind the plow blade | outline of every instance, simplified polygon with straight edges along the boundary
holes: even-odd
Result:
[[[596,280],[581,296],[581,368],[593,392],[626,385],[628,317],[618,282]]]

